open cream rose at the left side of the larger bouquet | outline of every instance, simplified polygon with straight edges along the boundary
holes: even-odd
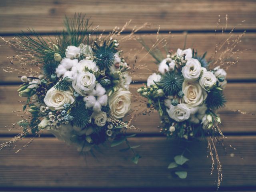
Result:
[[[74,96],[71,90],[59,91],[54,87],[50,88],[44,97],[44,103],[52,110],[64,109],[65,103],[74,103]]]

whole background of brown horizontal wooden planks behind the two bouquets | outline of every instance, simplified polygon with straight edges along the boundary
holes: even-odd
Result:
[[[197,48],[198,52],[208,51],[208,58],[214,53],[216,22],[220,15],[222,25],[228,14],[228,30],[246,20],[236,32],[247,30],[239,49],[250,50],[240,56],[237,66],[228,71],[228,86],[225,94],[227,108],[256,112],[256,2],[254,0],[0,0],[0,36],[12,38],[20,30],[34,28],[40,34],[53,35],[60,32],[63,17],[74,12],[92,16],[95,26],[112,30],[122,27],[132,19],[126,32],[134,25],[151,23],[151,28],[140,32],[147,42],[155,39],[156,31],[173,32],[172,48],[182,48],[184,31],[188,31],[187,46]],[[151,35],[150,35],[151,34]],[[0,43],[0,66],[6,66],[14,51]],[[140,45],[135,41],[124,42],[124,52],[131,52]],[[137,55],[142,58],[144,53]],[[235,58],[231,58],[234,60]],[[156,69],[153,59],[147,56],[144,63]],[[143,74],[141,74],[143,73]],[[133,75],[136,81],[132,92],[151,72],[141,70]],[[12,113],[22,106],[17,93],[20,84],[17,74],[0,71],[0,142],[9,140],[18,130],[8,132],[6,126],[19,120]],[[219,191],[256,191],[256,117],[220,111],[226,147],[231,144],[237,150],[225,154],[219,148],[223,165],[224,181]],[[66,146],[50,134],[37,138],[25,150],[0,152],[0,191],[216,191],[216,172],[210,176],[210,159],[207,158],[206,142],[193,142],[189,146],[192,154],[188,178],[172,178],[168,164],[181,152],[176,142],[166,140],[159,134],[158,115],[142,116],[134,123],[142,128],[132,144],[142,144],[138,152],[143,156],[138,165],[130,162],[131,154],[118,152],[116,148],[101,147],[96,157],[82,156],[72,146]],[[16,146],[18,149],[27,142],[24,139]],[[241,156],[243,160],[241,159]]]

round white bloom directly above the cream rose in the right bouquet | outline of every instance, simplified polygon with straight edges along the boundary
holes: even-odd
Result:
[[[201,74],[201,64],[197,59],[188,59],[186,65],[182,67],[181,72],[185,80],[198,80]]]

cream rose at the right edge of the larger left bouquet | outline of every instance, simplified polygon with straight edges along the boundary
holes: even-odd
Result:
[[[123,118],[131,108],[131,92],[122,89],[114,92],[108,99],[108,105],[115,118]]]

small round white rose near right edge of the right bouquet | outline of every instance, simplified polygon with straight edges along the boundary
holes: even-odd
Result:
[[[203,72],[199,79],[199,84],[204,90],[210,90],[216,85],[217,79],[214,74],[210,71]]]

